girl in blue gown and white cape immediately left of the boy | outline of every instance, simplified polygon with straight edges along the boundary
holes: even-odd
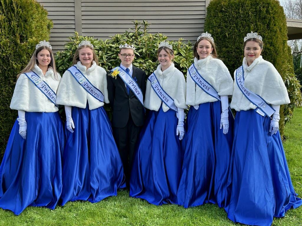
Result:
[[[76,200],[99,202],[125,187],[123,165],[103,107],[104,102],[109,103],[106,72],[98,66],[89,41],[79,44],[73,63],[75,67],[63,75],[56,101],[65,105],[67,127],[62,205]],[[72,68],[76,68],[74,74]],[[74,76],[82,76],[82,80],[78,82]],[[85,89],[81,82],[92,85]],[[95,98],[99,91],[102,100]]]

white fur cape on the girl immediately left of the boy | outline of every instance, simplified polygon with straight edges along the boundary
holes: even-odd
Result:
[[[86,71],[86,67],[78,61],[76,66],[85,77],[104,95],[104,102],[109,103],[107,90],[107,77],[104,68],[98,66],[94,61]],[[86,108],[88,101],[89,109],[99,108],[103,102],[95,99],[76,81],[69,71],[65,71],[59,85],[56,103],[79,108]]]

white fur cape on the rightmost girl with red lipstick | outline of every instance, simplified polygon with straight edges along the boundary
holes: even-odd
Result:
[[[250,66],[247,66],[246,58],[243,58],[244,86],[253,93],[261,96],[268,104],[281,105],[288,104],[287,89],[284,82],[274,67],[262,56],[256,58]],[[247,71],[250,71],[247,73]],[[236,83],[236,70],[234,72],[234,93],[231,108],[236,111],[246,111],[257,108],[243,95]]]

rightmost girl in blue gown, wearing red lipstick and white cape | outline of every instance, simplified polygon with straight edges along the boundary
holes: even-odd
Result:
[[[262,59],[262,46],[261,36],[247,34],[243,66],[234,73],[231,108],[237,113],[225,210],[234,222],[270,226],[273,217],[283,217],[288,209],[301,206],[302,200],[291,183],[278,131],[280,105],[290,100],[278,71]],[[237,85],[236,74],[240,78],[241,69],[249,96]],[[271,118],[252,103],[254,100],[247,99],[250,92],[264,99],[266,108],[271,105]]]

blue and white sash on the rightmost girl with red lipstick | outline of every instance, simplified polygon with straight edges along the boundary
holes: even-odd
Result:
[[[236,83],[240,91],[243,93],[243,95],[255,106],[257,106],[256,111],[259,113],[259,110],[261,110],[265,115],[270,117],[272,114],[274,114],[275,110],[265,102],[265,100],[247,89],[244,86],[244,72],[243,72],[243,66],[238,67],[236,70]],[[260,113],[259,113],[260,114]],[[260,114],[262,115],[262,114]]]

